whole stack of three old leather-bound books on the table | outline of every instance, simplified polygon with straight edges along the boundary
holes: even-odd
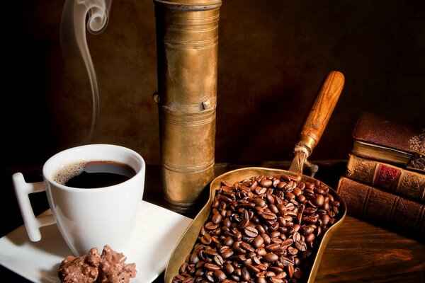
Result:
[[[425,236],[425,125],[361,113],[337,192],[348,214]]]

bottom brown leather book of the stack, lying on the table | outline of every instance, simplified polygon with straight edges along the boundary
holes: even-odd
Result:
[[[425,205],[342,176],[336,189],[347,213],[397,231],[425,236]]]

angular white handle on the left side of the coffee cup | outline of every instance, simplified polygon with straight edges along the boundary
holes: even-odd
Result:
[[[26,226],[28,236],[33,242],[40,241],[40,227],[55,224],[56,220],[52,214],[36,217],[34,215],[33,207],[30,203],[29,195],[34,192],[45,191],[45,185],[43,182],[26,183],[22,173],[13,174],[12,180],[13,187],[15,188],[16,198],[19,204],[19,209],[21,209],[23,223]]]

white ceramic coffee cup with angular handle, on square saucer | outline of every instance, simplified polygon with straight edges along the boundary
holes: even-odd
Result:
[[[134,169],[130,179],[106,187],[69,187],[55,180],[57,173],[76,163],[112,161]],[[23,221],[31,241],[40,241],[40,227],[57,224],[74,255],[90,248],[111,246],[124,250],[132,233],[137,209],[145,187],[145,161],[140,154],[123,146],[89,144],[61,151],[49,158],[43,168],[43,181],[26,183],[22,173],[13,174]],[[35,216],[29,194],[45,191],[51,215]]]

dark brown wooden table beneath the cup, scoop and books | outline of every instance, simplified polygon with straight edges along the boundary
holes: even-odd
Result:
[[[345,161],[317,161],[319,172],[314,178],[336,188],[339,176],[344,174]],[[248,165],[246,165],[248,166]],[[215,166],[215,175],[246,166],[231,166],[220,163]],[[251,165],[249,165],[251,166]],[[254,164],[271,168],[287,169],[288,162],[265,162]],[[0,199],[1,225],[0,236],[13,231],[23,224],[18,204],[11,185],[11,175],[22,168],[2,168],[0,182],[2,185]],[[24,170],[28,182],[40,180],[40,167]],[[32,180],[33,179],[33,180]],[[45,197],[35,197],[35,212],[48,208]],[[166,207],[162,198],[162,189],[158,165],[148,165],[145,195],[147,202]],[[207,200],[206,195],[202,200]],[[202,207],[203,204],[200,204]],[[200,208],[199,207],[199,208]],[[193,217],[196,211],[186,216]],[[0,278],[10,278],[7,282],[28,282],[19,275],[0,266]],[[6,277],[7,276],[7,277]],[[2,282],[4,279],[1,279]],[[154,281],[164,282],[164,273]],[[402,234],[395,233],[377,225],[361,221],[348,215],[340,229],[331,237],[324,251],[315,282],[425,282],[425,240],[417,241]]]

